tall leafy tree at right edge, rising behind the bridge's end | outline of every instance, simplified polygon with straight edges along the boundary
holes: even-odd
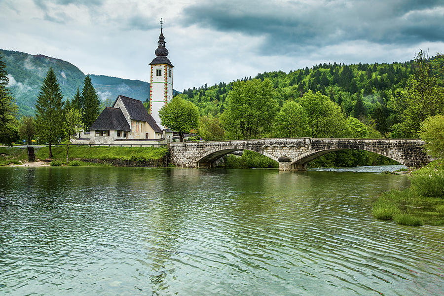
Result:
[[[437,54],[437,58],[442,58]],[[439,65],[430,61],[424,52],[415,56],[414,74],[410,75],[407,87],[397,90],[393,96],[395,111],[402,122],[395,127],[405,137],[418,136],[422,122],[430,116],[444,114],[444,88],[437,83]]]

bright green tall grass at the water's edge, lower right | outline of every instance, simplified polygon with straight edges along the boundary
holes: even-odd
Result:
[[[373,217],[402,225],[444,225],[444,160],[431,162],[412,173],[411,185],[379,196]]]

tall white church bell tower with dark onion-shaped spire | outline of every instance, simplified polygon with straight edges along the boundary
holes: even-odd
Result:
[[[149,113],[157,125],[163,128],[159,110],[173,99],[173,65],[167,58],[168,50],[165,48],[165,37],[163,36],[163,21],[160,20],[159,45],[155,50],[156,57],[149,65],[151,66],[149,85]]]

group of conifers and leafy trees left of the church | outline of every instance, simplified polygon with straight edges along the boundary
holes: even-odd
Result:
[[[7,89],[8,76],[6,66],[0,56],[0,143],[11,145],[21,135],[30,144],[35,137],[39,143],[49,144],[49,158],[52,158],[51,146],[68,140],[79,131],[87,130],[97,118],[101,101],[94,89],[91,77],[86,75],[82,91],[77,88],[74,98],[63,101],[60,84],[52,68],[49,68],[35,105],[36,116],[18,118],[18,108]],[[19,144],[19,143],[17,143]],[[68,148],[69,149],[69,148]],[[68,150],[67,150],[68,155]]]

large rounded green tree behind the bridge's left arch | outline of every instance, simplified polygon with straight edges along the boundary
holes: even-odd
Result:
[[[228,93],[221,119],[230,138],[257,138],[270,128],[278,108],[268,79],[236,81]]]

